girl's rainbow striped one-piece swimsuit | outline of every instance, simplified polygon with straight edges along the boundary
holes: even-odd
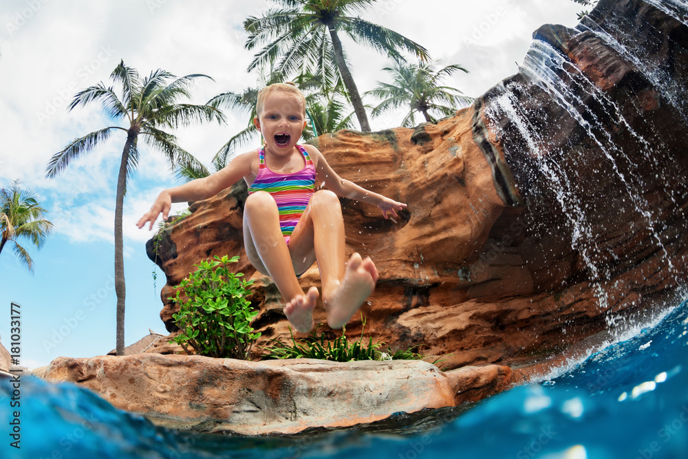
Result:
[[[297,148],[305,159],[303,169],[294,173],[275,173],[266,166],[265,149],[261,147],[258,150],[258,174],[248,187],[248,194],[267,191],[275,199],[279,211],[279,228],[287,245],[315,189],[315,166],[305,148],[301,145],[297,145]]]

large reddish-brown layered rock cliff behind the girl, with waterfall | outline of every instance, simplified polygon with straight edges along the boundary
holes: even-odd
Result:
[[[343,178],[409,205],[391,221],[341,201],[347,253],[380,272],[362,309],[366,336],[451,354],[445,369],[532,365],[676,294],[688,242],[688,27],[672,12],[602,0],[575,30],[537,30],[519,74],[452,118],[315,140]],[[237,184],[162,234],[169,331],[166,297],[192,265],[241,255],[237,270],[257,281],[259,344],[288,337],[279,292],[242,248],[245,199]],[[316,266],[301,284],[319,286]],[[315,319],[325,322],[322,309]],[[347,332],[360,330],[354,318]]]

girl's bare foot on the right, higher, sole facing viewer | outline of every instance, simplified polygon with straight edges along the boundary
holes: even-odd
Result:
[[[323,289],[323,303],[327,312],[327,324],[330,328],[342,328],[351,319],[354,312],[375,289],[378,271],[373,261],[354,253],[349,259],[344,279],[332,291]]]

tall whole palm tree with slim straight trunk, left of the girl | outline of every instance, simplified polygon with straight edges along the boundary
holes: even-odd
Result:
[[[125,342],[125,272],[122,253],[122,204],[127,190],[127,178],[136,171],[140,152],[138,136],[143,136],[149,147],[161,151],[172,167],[175,164],[194,164],[203,168],[191,154],[179,147],[177,138],[163,129],[176,129],[191,125],[192,122],[211,121],[222,123],[222,112],[208,105],[180,103],[180,98],[189,98],[189,88],[197,78],[209,78],[201,74],[175,77],[164,70],[155,70],[150,76],[141,79],[138,72],[127,67],[122,61],[110,74],[111,80],[121,86],[121,98],[112,86],[105,87],[103,82],[87,87],[74,96],[69,110],[85,107],[100,101],[103,110],[114,120],[126,120],[128,127],[108,126],[83,137],[72,140],[65,149],[56,153],[46,169],[46,177],[53,178],[63,171],[72,160],[90,153],[103,144],[114,131],[127,134],[122,150],[117,178],[115,204],[115,292],[117,295],[117,354],[124,352]]]

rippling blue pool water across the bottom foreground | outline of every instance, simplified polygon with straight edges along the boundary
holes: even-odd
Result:
[[[2,458],[687,458],[688,303],[577,362],[468,409],[296,437],[153,426],[73,384],[21,379],[21,449]],[[0,418],[10,419],[8,381]],[[6,426],[7,427],[7,426]],[[3,431],[8,431],[4,428]]]

